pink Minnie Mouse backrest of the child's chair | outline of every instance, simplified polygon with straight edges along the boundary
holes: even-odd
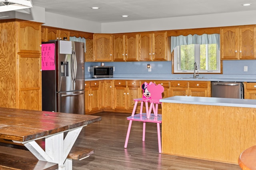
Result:
[[[148,99],[162,99],[162,92],[164,92],[164,87],[161,84],[156,85],[153,82],[149,84],[144,82],[141,86],[143,90],[143,97]]]

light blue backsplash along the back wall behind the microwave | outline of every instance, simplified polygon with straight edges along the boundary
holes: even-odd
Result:
[[[88,67],[101,62],[86,62],[85,78],[90,78]],[[148,72],[147,64],[151,66]],[[188,77],[191,74],[172,74],[172,61],[105,62],[105,66],[114,66],[114,77],[125,78],[175,78]],[[248,71],[244,72],[244,66]],[[223,74],[200,74],[209,78],[256,78],[256,60],[223,61]]]

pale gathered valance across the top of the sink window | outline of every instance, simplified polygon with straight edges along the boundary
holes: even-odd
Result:
[[[217,44],[220,50],[220,34],[202,34],[202,35],[179,35],[171,37],[171,52],[175,47],[190,44]]]

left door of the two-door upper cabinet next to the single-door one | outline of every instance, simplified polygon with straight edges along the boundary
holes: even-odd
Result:
[[[125,61],[125,39],[124,35],[113,36],[114,61]]]

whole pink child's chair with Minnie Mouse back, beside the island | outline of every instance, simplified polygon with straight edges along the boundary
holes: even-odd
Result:
[[[142,84],[143,97],[139,99],[134,99],[135,104],[132,111],[132,115],[127,117],[129,120],[129,126],[126,134],[126,140],[124,144],[124,148],[127,148],[128,140],[130,136],[130,131],[132,127],[132,121],[142,121],[143,122],[143,134],[142,141],[145,141],[145,132],[146,132],[146,122],[148,123],[156,123],[157,125],[157,134],[158,134],[158,152],[162,152],[161,148],[161,132],[160,132],[160,123],[162,123],[162,115],[158,115],[158,104],[160,99],[162,99],[162,92],[164,92],[164,87],[161,84],[154,84],[152,82]],[[140,113],[135,115],[136,107],[138,102],[140,102]],[[142,113],[143,103],[145,103],[146,113]],[[150,107],[148,109],[148,103],[150,103]],[[151,113],[153,109],[153,113]]]

